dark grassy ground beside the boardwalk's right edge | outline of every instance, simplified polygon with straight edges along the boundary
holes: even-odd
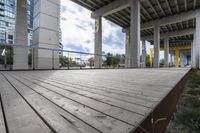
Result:
[[[200,133],[200,70],[189,77],[166,133]]]

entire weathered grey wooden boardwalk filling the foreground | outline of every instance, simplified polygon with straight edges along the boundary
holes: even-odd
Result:
[[[129,133],[188,71],[0,72],[0,133]]]

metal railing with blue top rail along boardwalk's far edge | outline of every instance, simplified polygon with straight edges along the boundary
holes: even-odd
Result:
[[[18,53],[17,53],[18,52]],[[21,53],[20,53],[21,52]],[[23,52],[27,53],[23,55]],[[28,69],[94,69],[94,60],[102,58],[102,68],[124,68],[124,64],[110,66],[105,63],[107,55],[98,55],[86,52],[77,52],[70,50],[51,49],[37,47],[34,45],[13,45],[0,44],[0,70],[13,70],[14,64],[21,61],[27,61]],[[16,57],[19,56],[18,59]],[[24,57],[26,56],[26,57]],[[38,63],[40,62],[40,63]],[[42,62],[42,63],[41,63]],[[19,64],[18,63],[18,64]],[[112,61],[110,62],[113,63]],[[44,66],[40,66],[43,64]],[[46,65],[46,66],[45,66]]]

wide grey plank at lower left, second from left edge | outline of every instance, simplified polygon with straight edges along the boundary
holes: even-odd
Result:
[[[2,96],[9,133],[49,133],[50,129],[0,74]]]

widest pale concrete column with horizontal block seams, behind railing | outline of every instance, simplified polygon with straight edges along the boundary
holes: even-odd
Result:
[[[60,0],[34,0],[33,46],[35,69],[58,69]]]

